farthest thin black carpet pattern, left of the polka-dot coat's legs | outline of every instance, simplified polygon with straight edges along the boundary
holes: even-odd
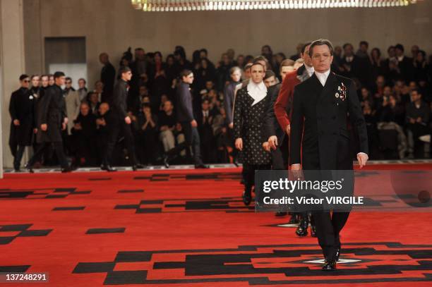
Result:
[[[133,179],[141,181],[240,181],[241,173],[214,172],[214,173],[153,173],[149,176],[136,176]]]

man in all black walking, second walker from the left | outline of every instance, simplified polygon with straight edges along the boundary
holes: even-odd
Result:
[[[116,171],[116,169],[110,165],[110,158],[120,134],[124,135],[126,149],[128,149],[128,154],[132,161],[132,169],[136,171],[136,169],[143,167],[141,164],[138,164],[136,159],[135,145],[133,143],[133,135],[131,130],[132,121],[128,116],[126,105],[129,88],[128,81],[132,78],[131,68],[121,67],[120,75],[121,78],[114,87],[111,109],[111,113],[116,116],[116,121],[118,121],[118,124],[115,128],[113,128],[107,142],[107,149],[105,150],[104,159],[101,166],[101,169],[104,171]]]

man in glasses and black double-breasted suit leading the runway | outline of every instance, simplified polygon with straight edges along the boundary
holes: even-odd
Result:
[[[366,123],[356,94],[354,81],[330,71],[333,47],[328,40],[311,44],[309,54],[315,72],[296,85],[291,117],[289,162],[300,176],[304,170],[352,170],[353,161],[348,121],[359,137],[360,168],[368,160]],[[325,257],[324,271],[336,269],[340,254],[339,233],[349,212],[313,214],[318,242]]]

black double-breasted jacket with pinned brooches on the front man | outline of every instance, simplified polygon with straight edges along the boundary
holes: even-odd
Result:
[[[336,97],[338,87],[346,87],[346,97]],[[352,169],[348,121],[359,136],[359,152],[368,153],[366,123],[354,82],[330,73],[325,86],[314,73],[294,89],[290,164],[303,169]]]

